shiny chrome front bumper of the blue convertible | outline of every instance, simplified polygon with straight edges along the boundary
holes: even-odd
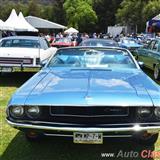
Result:
[[[34,129],[44,131],[66,131],[66,132],[141,132],[147,131],[149,133],[155,133],[160,131],[160,126],[140,126],[135,124],[132,127],[112,127],[112,128],[100,128],[100,127],[63,127],[63,126],[44,126],[44,125],[32,125],[15,123],[7,120],[8,124],[17,129]]]

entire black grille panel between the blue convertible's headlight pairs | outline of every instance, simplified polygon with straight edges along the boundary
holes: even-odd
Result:
[[[56,108],[58,108],[56,110]],[[61,110],[59,110],[61,108]],[[48,123],[65,123],[73,125],[104,125],[104,124],[125,124],[136,122],[135,107],[69,107],[65,106],[42,106],[40,117],[35,118],[35,121]],[[104,115],[104,109],[107,114]],[[112,109],[111,109],[112,108]],[[71,110],[72,109],[72,110]],[[102,110],[103,109],[103,110]],[[118,113],[119,112],[119,113]],[[56,113],[56,114],[55,114]],[[63,114],[62,114],[63,113]],[[65,114],[64,114],[65,113]],[[127,113],[127,114],[126,114]],[[31,120],[25,116],[23,120]]]

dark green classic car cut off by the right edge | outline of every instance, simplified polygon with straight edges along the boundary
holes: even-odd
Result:
[[[139,61],[154,71],[154,78],[160,79],[160,39],[153,39],[148,45],[139,48],[136,53]]]

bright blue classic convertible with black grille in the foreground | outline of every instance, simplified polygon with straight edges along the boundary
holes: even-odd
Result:
[[[7,122],[28,140],[70,136],[101,144],[134,137],[153,144],[160,129],[160,87],[126,49],[59,49],[11,98]]]

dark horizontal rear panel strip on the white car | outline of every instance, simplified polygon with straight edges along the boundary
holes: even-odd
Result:
[[[32,58],[8,58],[0,57],[1,64],[33,64]]]

